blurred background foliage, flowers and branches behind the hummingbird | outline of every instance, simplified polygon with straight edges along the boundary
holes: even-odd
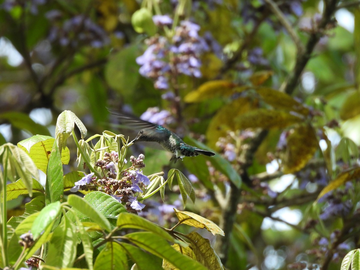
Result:
[[[63,110],[90,136],[117,130],[106,107],[141,116],[217,151],[137,154],[193,181],[228,269],[339,269],[359,248],[359,26],[352,0],[4,0],[0,143],[54,136]],[[167,194],[141,214],[171,228]]]

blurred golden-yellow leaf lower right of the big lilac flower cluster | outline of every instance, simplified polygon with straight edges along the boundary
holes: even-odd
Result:
[[[199,86],[198,89],[190,92],[184,98],[185,102],[201,102],[217,96],[229,96],[234,93],[233,89],[237,86],[227,80],[208,81]]]

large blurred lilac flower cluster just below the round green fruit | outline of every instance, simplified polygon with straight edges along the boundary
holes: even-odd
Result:
[[[158,26],[170,26],[172,19],[167,15],[156,15],[153,21]],[[198,32],[200,26],[190,21],[181,21],[174,36],[168,39],[156,35],[146,40],[144,54],[136,58],[142,76],[154,80],[157,89],[168,89],[170,77],[184,74],[201,77],[201,55],[210,50],[207,42]]]

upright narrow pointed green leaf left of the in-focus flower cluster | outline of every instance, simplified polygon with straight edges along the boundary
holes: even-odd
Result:
[[[45,198],[46,203],[62,201],[64,194],[63,165],[58,145],[54,141],[46,170]]]

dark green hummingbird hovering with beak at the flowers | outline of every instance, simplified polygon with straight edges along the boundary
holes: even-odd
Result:
[[[150,123],[148,121],[127,116],[125,114],[112,111],[111,109],[108,110],[111,114],[116,116],[123,125],[129,126],[133,129],[141,129],[136,138],[132,140],[133,142],[156,141],[164,149],[174,154],[170,161],[175,159],[176,162],[178,159],[183,160],[183,157],[195,157],[199,154],[203,154],[208,157],[215,155],[213,152],[184,143],[184,141],[179,136],[163,126],[155,125],[154,123]]]

